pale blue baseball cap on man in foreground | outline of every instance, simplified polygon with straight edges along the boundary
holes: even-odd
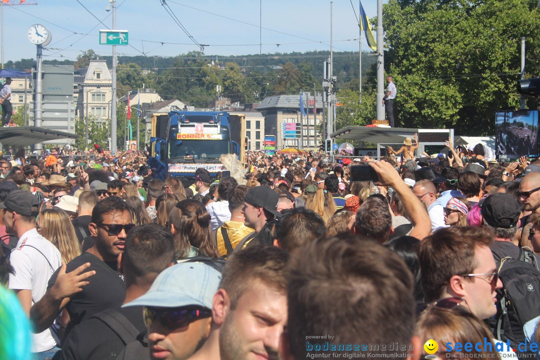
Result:
[[[221,273],[205,263],[181,262],[161,271],[146,294],[124,307],[200,306],[212,309],[212,300],[220,281]]]

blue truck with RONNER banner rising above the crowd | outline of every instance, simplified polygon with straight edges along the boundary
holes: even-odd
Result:
[[[151,158],[166,174],[192,181],[197,168],[213,177],[222,169],[222,154],[245,161],[245,114],[225,111],[171,111],[152,116]]]

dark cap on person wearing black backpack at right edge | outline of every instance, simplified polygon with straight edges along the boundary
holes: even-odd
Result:
[[[511,228],[517,225],[521,209],[514,196],[505,193],[489,195],[482,204],[482,216],[489,226]]]

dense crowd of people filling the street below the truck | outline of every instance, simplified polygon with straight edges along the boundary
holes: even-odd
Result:
[[[0,358],[540,358],[540,159],[411,146],[0,158]]]

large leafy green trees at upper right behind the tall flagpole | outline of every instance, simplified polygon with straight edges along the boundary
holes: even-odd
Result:
[[[384,64],[397,85],[394,111],[401,124],[494,133],[495,111],[519,106],[522,36],[526,72],[536,73],[540,65],[536,5],[531,0],[384,4]]]

